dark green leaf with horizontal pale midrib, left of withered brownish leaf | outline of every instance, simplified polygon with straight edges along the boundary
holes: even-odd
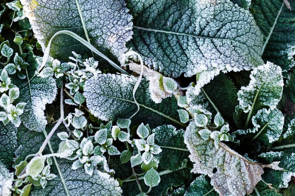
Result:
[[[155,144],[160,145],[159,166],[165,170],[176,171],[188,159],[189,152],[184,144],[184,131],[177,130],[172,125],[158,126],[152,130],[155,134]]]

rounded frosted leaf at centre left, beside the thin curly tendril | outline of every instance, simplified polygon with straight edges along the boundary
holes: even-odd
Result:
[[[83,94],[87,108],[103,121],[114,119],[117,111],[130,109],[130,103],[121,99],[133,100],[132,91],[136,81],[134,76],[124,74],[101,74],[90,78],[85,83]]]

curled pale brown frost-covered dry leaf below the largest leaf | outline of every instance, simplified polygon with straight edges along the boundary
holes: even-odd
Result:
[[[129,68],[135,73],[141,73],[141,65],[137,63],[129,63]],[[148,89],[150,92],[150,97],[155,103],[160,103],[163,98],[168,98],[173,95],[173,93],[171,92],[166,92],[164,88],[160,88],[160,79],[163,77],[161,73],[158,73],[144,66],[143,76],[145,76],[149,80]]]

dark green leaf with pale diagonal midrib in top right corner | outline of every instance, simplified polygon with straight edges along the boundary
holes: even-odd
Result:
[[[287,71],[294,67],[295,55],[295,0],[252,0],[254,19],[264,35],[263,59]]]

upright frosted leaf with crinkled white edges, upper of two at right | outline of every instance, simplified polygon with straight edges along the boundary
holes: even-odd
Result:
[[[276,108],[283,94],[282,69],[273,63],[254,68],[250,74],[248,86],[242,86],[237,93],[237,99],[241,109],[249,112],[258,94],[255,104],[268,106],[271,110]]]

